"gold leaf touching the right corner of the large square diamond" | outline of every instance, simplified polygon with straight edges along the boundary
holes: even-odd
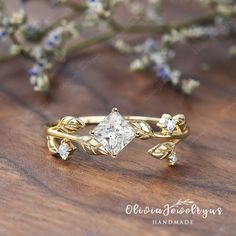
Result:
[[[136,137],[140,139],[148,139],[153,136],[153,130],[151,126],[144,121],[130,122],[136,130]]]

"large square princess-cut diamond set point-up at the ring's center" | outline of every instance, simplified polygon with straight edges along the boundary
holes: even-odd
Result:
[[[91,133],[112,156],[116,156],[135,138],[135,130],[116,109],[113,109]]]

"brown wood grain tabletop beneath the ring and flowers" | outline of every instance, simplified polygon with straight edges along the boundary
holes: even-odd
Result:
[[[203,12],[177,2],[170,1],[167,14]],[[44,4],[28,8],[36,16],[47,12]],[[32,91],[26,76],[31,62],[20,58],[1,64],[0,235],[235,235],[236,67],[227,57],[230,43],[178,46],[175,66],[201,81],[192,97],[151,73],[129,72],[129,58],[105,45],[66,63],[49,98]],[[204,62],[210,64],[207,71],[201,69]],[[184,113],[192,132],[178,146],[179,164],[169,168],[152,158],[146,150],[155,142],[141,140],[117,159],[78,151],[63,162],[49,155],[48,121],[104,115],[113,106],[124,115]],[[202,208],[222,207],[223,214],[187,216],[192,225],[153,225],[153,219],[166,217],[125,214],[127,204],[161,208],[179,199]]]

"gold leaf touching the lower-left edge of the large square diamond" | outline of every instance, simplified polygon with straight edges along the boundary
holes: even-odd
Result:
[[[96,139],[91,136],[83,136],[79,142],[81,148],[90,155],[108,155],[109,153]]]

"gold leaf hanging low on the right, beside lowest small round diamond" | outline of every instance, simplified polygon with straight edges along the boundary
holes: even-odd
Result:
[[[148,150],[148,153],[155,158],[163,159],[174,151],[175,144],[172,142],[159,143],[155,147]]]

